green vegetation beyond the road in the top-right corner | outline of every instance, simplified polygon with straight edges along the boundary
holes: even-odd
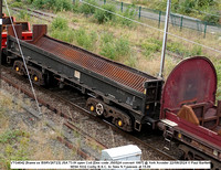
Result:
[[[130,0],[133,4],[166,11],[167,0]],[[210,23],[219,23],[221,4],[215,0],[172,0],[171,12],[198,18]]]

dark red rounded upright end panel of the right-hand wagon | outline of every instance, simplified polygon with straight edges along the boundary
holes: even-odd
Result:
[[[183,104],[214,104],[217,73],[206,57],[196,56],[179,63],[167,78],[161,97],[165,109],[179,109]]]

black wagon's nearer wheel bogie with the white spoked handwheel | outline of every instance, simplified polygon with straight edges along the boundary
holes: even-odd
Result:
[[[133,120],[130,116],[113,106],[105,104],[101,99],[90,97],[86,102],[86,107],[92,114],[95,114],[96,116],[110,118],[112,123],[123,130],[133,130]]]

